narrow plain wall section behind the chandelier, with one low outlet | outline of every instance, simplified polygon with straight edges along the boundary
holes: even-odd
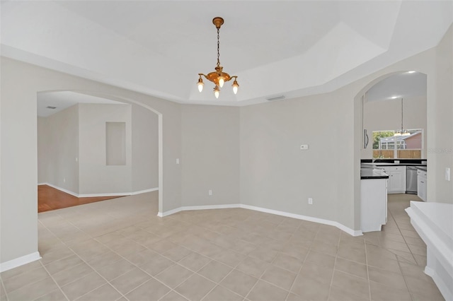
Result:
[[[183,105],[181,128],[183,206],[239,203],[239,107]]]

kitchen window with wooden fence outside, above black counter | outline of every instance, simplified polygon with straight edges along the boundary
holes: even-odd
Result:
[[[373,131],[373,158],[422,158],[423,129],[411,129],[406,134],[396,131]]]

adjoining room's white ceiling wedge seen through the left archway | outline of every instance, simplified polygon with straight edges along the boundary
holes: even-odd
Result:
[[[104,105],[125,105],[124,102],[98,98],[71,91],[38,93],[38,116],[49,117],[77,103],[98,103]],[[55,109],[48,108],[55,107]]]

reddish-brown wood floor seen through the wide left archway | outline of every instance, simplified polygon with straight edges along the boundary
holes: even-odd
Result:
[[[78,198],[48,185],[38,185],[38,213],[61,208],[115,199],[121,196],[96,196],[92,198]]]

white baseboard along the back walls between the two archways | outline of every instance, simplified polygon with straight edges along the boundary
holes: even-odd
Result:
[[[256,207],[256,206],[250,206],[250,205],[245,205],[242,203],[234,203],[234,204],[226,204],[226,205],[207,205],[207,206],[183,206],[183,207],[179,207],[179,208],[176,208],[176,209],[173,209],[170,211],[159,212],[159,213],[157,213],[157,216],[160,216],[161,218],[163,218],[164,216],[170,216],[171,214],[178,213],[180,211],[224,209],[224,208],[244,208],[244,209],[249,209],[249,210],[253,210],[253,211],[271,213],[271,214],[275,214],[277,216],[286,216],[288,218],[297,218],[298,220],[308,220],[310,222],[321,223],[323,225],[332,225],[352,236],[363,235],[362,230],[352,230],[351,228],[348,228],[345,225],[332,221],[332,220],[323,220],[322,218],[313,218],[311,216],[302,216],[299,214],[288,213],[288,212],[284,212],[284,211],[277,211],[277,210],[273,210],[273,209]]]

